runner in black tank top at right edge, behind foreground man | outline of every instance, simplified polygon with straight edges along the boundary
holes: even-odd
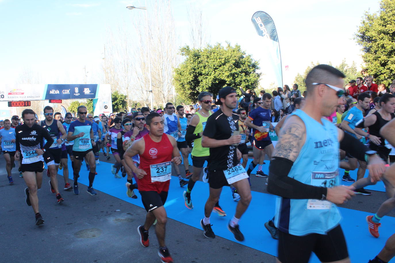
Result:
[[[389,93],[386,93],[380,97],[381,108],[377,112],[364,118],[356,127],[363,128],[369,127],[369,134],[363,132],[361,129],[355,129],[358,134],[368,137],[369,148],[373,151],[377,151],[377,154],[382,158],[389,166],[388,155],[391,152],[391,145],[383,138],[380,134],[380,130],[384,125],[386,125],[391,119],[395,118],[395,97]],[[392,168],[392,166],[391,166]],[[373,237],[379,237],[378,227],[381,225],[380,220],[383,216],[389,213],[395,208],[395,197],[394,197],[394,187],[395,175],[393,169],[387,169],[383,175],[382,181],[386,186],[387,195],[390,197],[378,209],[375,215],[370,215],[366,217],[368,223],[369,232]],[[355,188],[364,187],[371,185],[370,177],[362,178],[355,182],[352,186]]]

